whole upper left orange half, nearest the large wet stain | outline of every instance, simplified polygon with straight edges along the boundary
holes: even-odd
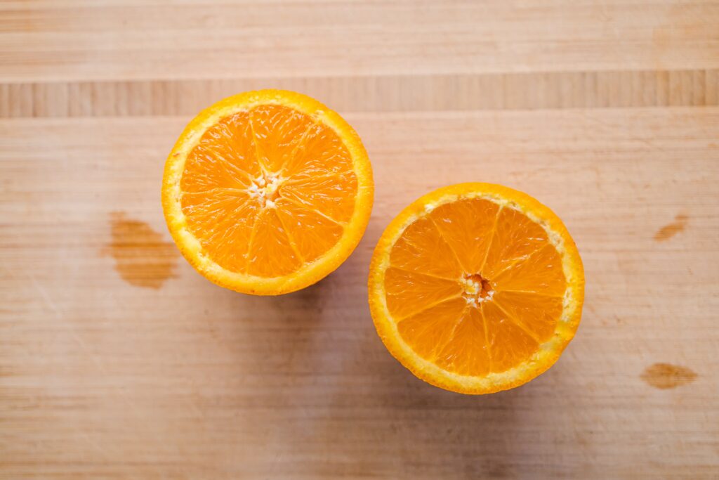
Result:
[[[185,258],[228,289],[276,295],[334,271],[372,209],[357,133],[314,99],[251,91],[188,124],[162,181],[168,228]]]

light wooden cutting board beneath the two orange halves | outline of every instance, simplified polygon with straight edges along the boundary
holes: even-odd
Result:
[[[180,258],[160,176],[202,107],[303,91],[365,141],[357,251],[280,298]],[[719,3],[0,3],[0,477],[719,478]],[[465,397],[375,334],[377,238],[459,181],[554,209],[582,325]]]

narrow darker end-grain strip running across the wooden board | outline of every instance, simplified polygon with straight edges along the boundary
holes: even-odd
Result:
[[[0,117],[193,116],[263,88],[321,96],[344,112],[715,107],[719,69],[0,83]]]

